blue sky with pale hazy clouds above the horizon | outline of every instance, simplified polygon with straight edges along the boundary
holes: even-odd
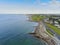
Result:
[[[0,14],[60,14],[60,0],[0,0]]]

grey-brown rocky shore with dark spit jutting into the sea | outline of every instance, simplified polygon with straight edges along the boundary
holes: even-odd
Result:
[[[31,19],[31,16],[29,16],[28,18],[29,18],[28,21],[34,22]],[[46,43],[46,45],[56,45],[56,42],[52,39],[51,35],[49,35],[48,32],[46,31],[44,23],[42,21],[37,23],[38,25],[35,27],[36,29],[34,30],[34,32],[29,34],[32,34],[34,37],[38,39],[42,39]]]

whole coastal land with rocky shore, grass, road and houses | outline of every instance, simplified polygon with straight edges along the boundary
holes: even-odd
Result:
[[[29,21],[37,22],[35,37],[44,40],[47,45],[60,45],[60,16],[56,14],[29,15]]]

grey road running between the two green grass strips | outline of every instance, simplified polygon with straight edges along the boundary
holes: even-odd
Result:
[[[60,45],[60,35],[58,35],[56,32],[54,32],[53,29],[49,28],[49,27],[45,24],[45,22],[43,22],[43,23],[44,23],[46,29],[50,30],[50,31],[53,33],[54,36],[52,37],[52,39],[53,39],[53,41],[55,41],[56,45]]]

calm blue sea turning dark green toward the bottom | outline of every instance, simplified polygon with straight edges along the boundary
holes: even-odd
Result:
[[[33,25],[25,15],[0,14],[0,45],[46,45],[28,34],[34,31]]]

